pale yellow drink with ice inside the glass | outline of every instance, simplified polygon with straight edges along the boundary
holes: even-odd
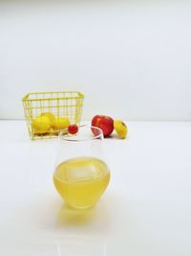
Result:
[[[77,157],[62,162],[53,175],[53,183],[70,206],[87,208],[96,203],[110,180],[107,165],[95,157]]]

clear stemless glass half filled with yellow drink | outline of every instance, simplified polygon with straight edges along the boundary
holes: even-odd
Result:
[[[74,135],[67,129],[58,135],[53,183],[61,198],[74,208],[96,204],[109,183],[102,143],[102,130],[91,126],[79,127]]]

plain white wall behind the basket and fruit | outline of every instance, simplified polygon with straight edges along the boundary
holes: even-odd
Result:
[[[0,118],[79,90],[83,119],[191,120],[190,1],[0,1]]]

